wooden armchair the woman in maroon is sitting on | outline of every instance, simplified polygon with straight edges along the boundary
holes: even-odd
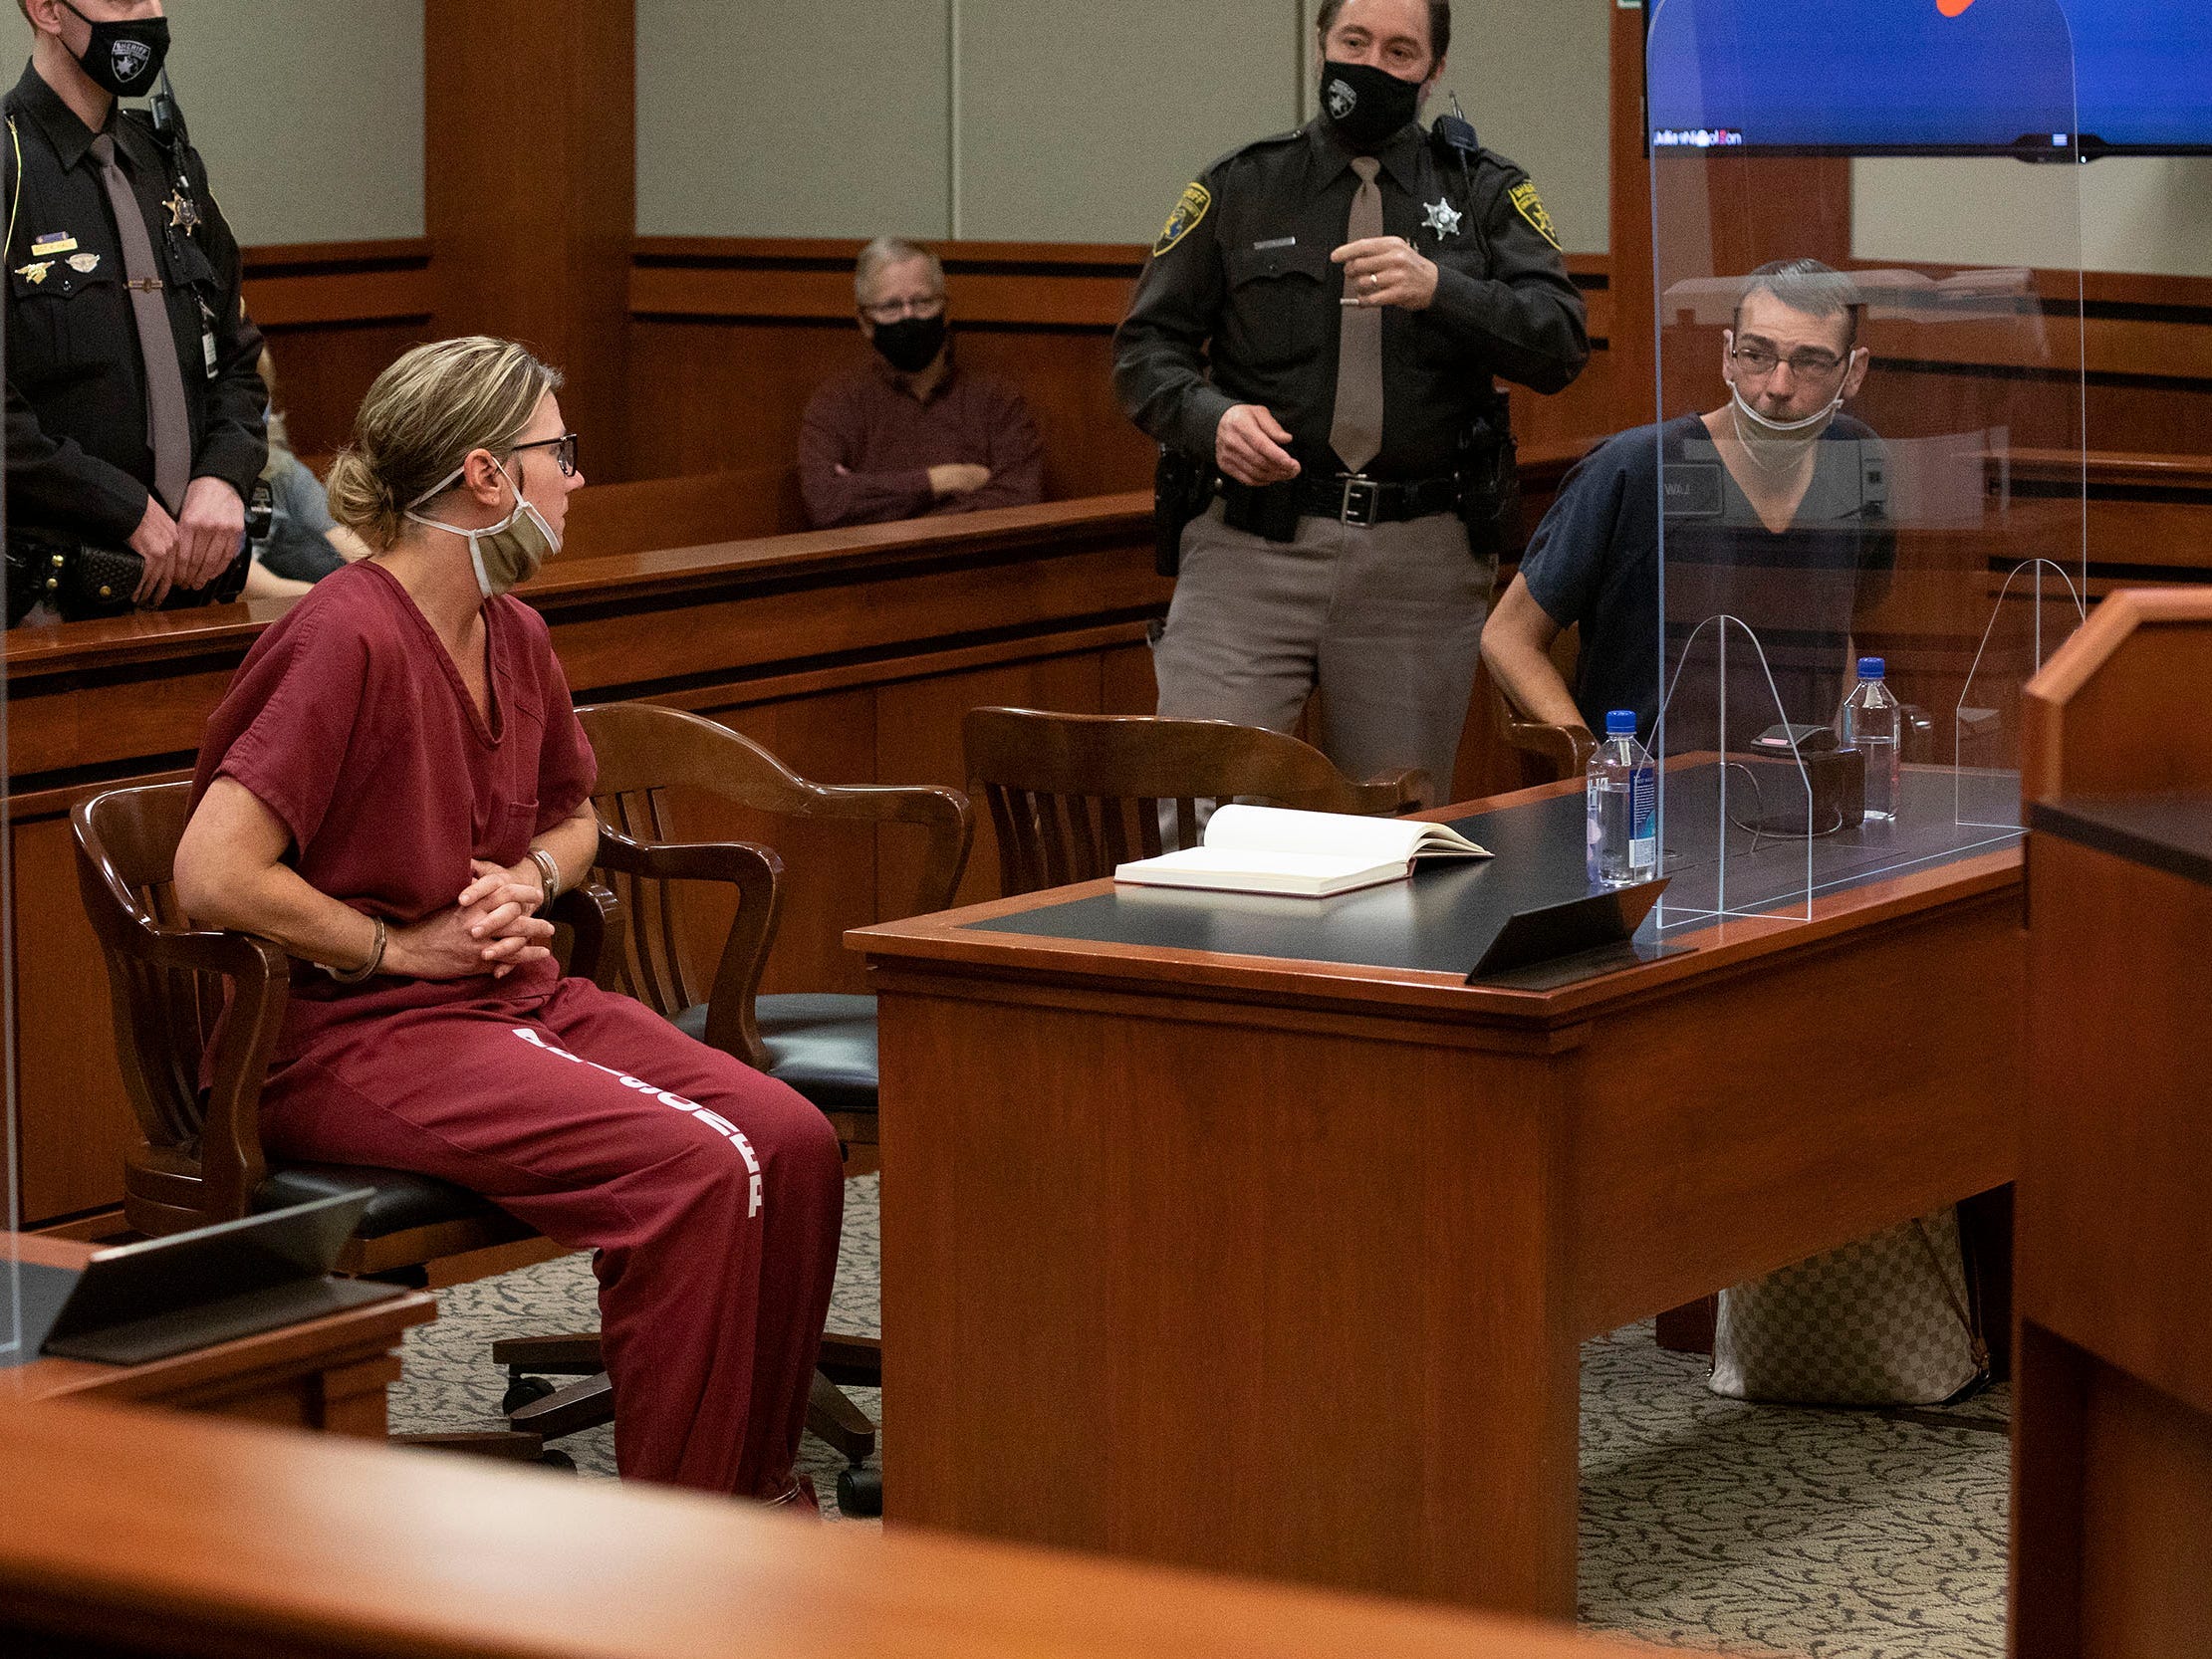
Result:
[[[155,783],[111,790],[71,812],[77,891],[100,936],[117,1060],[144,1135],[124,1157],[124,1221],[161,1237],[369,1188],[376,1197],[338,1270],[409,1285],[427,1283],[431,1261],[535,1239],[535,1230],[487,1199],[427,1175],[270,1161],[261,1146],[261,1086],[290,1000],[292,960],[270,940],[195,929],[184,916],[175,856],[188,803],[188,783]],[[566,894],[553,920],[577,971],[597,964],[608,933],[622,925],[613,896],[591,889]],[[226,987],[230,1020],[217,1040]],[[210,1040],[212,1084],[204,1091],[199,1071]],[[533,1343],[566,1352],[573,1338],[520,1338],[500,1347],[529,1352]],[[613,1416],[604,1376],[577,1389],[566,1416],[573,1427]],[[504,1433],[405,1440],[560,1460],[544,1453],[544,1442],[566,1431],[573,1429],[524,1422]]]

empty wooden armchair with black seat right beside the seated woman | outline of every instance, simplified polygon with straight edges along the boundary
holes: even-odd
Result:
[[[951,905],[973,841],[973,814],[958,790],[929,785],[823,785],[792,772],[748,737],[714,721],[650,703],[580,708],[599,759],[593,801],[602,823],[602,878],[635,918],[615,962],[613,989],[628,991],[701,1042],[790,1084],[823,1110],[847,1150],[876,1146],[876,998],[830,991],[759,995],[774,936],[774,896],[739,887],[737,920],[712,984],[686,962],[681,900],[666,878],[624,867],[608,847],[686,854],[675,841],[668,792],[699,792],[801,823],[905,823],[925,834],[922,874],[902,914]],[[670,867],[672,869],[672,867]],[[743,938],[741,938],[743,936]],[[754,942],[757,940],[757,942]],[[807,1427],[845,1460],[838,1509],[876,1515],[880,1473],[865,1467],[876,1425],[845,1398],[847,1387],[883,1385],[883,1345],[832,1332],[807,1402]]]

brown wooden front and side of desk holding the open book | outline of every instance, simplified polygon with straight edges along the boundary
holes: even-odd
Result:
[[[1571,1617],[1579,1340],[2013,1177],[2013,845],[1553,993],[1108,891],[852,940],[896,1524]]]

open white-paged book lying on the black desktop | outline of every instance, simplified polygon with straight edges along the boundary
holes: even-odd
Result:
[[[1327,898],[1405,880],[1416,858],[1491,856],[1442,823],[1283,807],[1221,807],[1201,841],[1199,847],[1119,865],[1113,878],[1137,887]]]

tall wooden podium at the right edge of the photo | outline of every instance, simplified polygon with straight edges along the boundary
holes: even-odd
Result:
[[[2212,593],[2028,688],[2013,1652],[2212,1655]]]

